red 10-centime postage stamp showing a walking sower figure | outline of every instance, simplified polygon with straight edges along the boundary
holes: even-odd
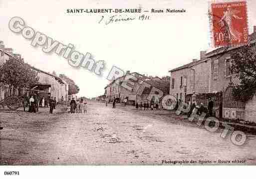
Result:
[[[249,42],[246,1],[212,3],[211,11],[215,47]]]

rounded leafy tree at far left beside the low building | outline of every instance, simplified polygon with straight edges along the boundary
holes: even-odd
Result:
[[[37,72],[23,59],[12,57],[0,66],[0,82],[14,88],[27,88],[38,82]]]

